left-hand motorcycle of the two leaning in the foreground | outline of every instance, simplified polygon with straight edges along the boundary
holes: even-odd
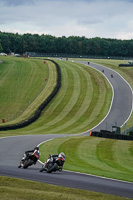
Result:
[[[24,153],[18,168],[23,167],[24,169],[26,169],[33,164],[35,165],[39,157],[40,153],[38,151],[34,151],[32,153]]]

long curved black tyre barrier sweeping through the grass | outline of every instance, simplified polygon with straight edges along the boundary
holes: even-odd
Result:
[[[60,70],[60,67],[54,60],[50,60],[50,59],[45,59],[45,60],[49,60],[49,61],[53,62],[55,64],[55,66],[56,66],[57,84],[56,84],[53,92],[38,107],[38,109],[35,111],[35,113],[30,118],[28,118],[25,121],[22,121],[20,123],[17,123],[17,124],[11,124],[11,125],[7,125],[7,126],[0,126],[0,131],[7,131],[7,130],[15,130],[15,129],[19,129],[19,128],[24,128],[25,126],[28,126],[28,125],[32,124],[33,122],[35,122],[40,117],[40,115],[41,115],[42,111],[44,110],[44,108],[48,105],[48,103],[54,98],[54,96],[59,91],[59,89],[61,87],[61,70]]]

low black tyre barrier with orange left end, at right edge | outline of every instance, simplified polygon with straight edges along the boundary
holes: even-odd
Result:
[[[109,138],[109,139],[118,139],[118,140],[133,140],[132,135],[120,135],[115,134],[114,132],[107,132],[107,131],[92,131],[91,136],[102,137],[102,138]]]

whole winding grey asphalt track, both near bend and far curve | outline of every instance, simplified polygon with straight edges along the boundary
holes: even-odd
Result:
[[[85,62],[82,63],[86,64]],[[97,127],[95,127],[94,130],[105,128],[105,122],[110,129],[116,120],[117,125],[122,126],[122,124],[130,116],[132,110],[131,88],[116,72],[97,64],[91,63],[89,65],[97,68],[99,71],[104,68],[104,74],[114,88],[114,99],[111,110],[108,113],[107,118],[104,119],[103,122]],[[110,77],[111,73],[113,73],[113,78]],[[126,109],[124,110],[124,108]],[[88,134],[88,132],[84,134]],[[25,149],[32,149],[33,146],[38,145],[42,141],[64,136],[67,135],[31,135],[0,138],[0,175],[133,198],[133,183],[68,171],[63,171],[62,173],[57,172],[53,174],[40,173],[40,163],[29,167],[27,170],[17,168]]]

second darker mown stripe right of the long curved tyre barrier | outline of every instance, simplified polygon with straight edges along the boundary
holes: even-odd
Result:
[[[69,128],[71,129],[73,126],[75,127],[75,123],[77,122],[77,120],[78,123],[80,123],[79,119],[81,116],[83,116],[86,109],[88,109],[93,93],[90,76],[86,73],[86,71],[83,70],[83,66],[79,67],[79,65],[74,65],[74,68],[77,70],[80,77],[81,92],[71,110],[71,113],[68,113],[68,116],[65,120],[66,122],[63,124],[61,123],[60,127],[58,128],[59,133],[65,132]]]

